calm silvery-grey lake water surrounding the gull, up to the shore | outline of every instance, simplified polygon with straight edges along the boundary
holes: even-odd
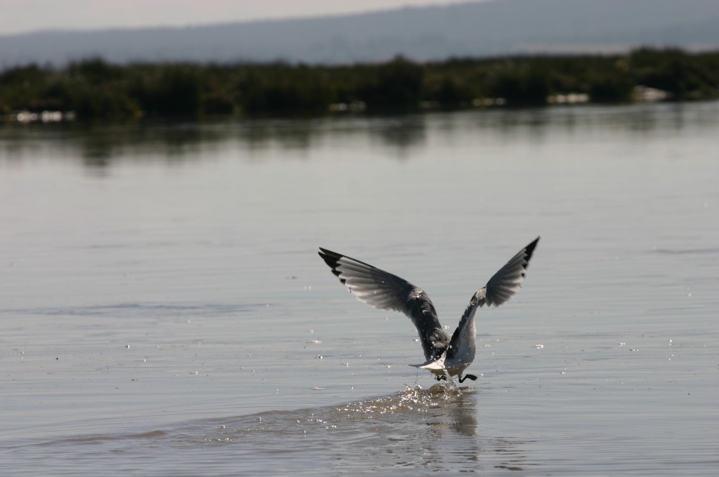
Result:
[[[719,103],[1,126],[0,473],[715,475],[718,138]],[[451,333],[537,235],[459,389],[316,254]]]

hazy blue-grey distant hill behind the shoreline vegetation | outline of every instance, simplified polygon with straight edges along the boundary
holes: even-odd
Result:
[[[718,0],[493,0],[183,28],[0,36],[0,67],[193,61],[350,63],[631,47],[719,48]]]

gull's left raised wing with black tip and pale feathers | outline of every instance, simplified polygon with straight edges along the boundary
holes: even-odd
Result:
[[[426,292],[396,275],[372,267],[363,261],[320,248],[319,256],[357,300],[380,310],[395,310],[407,315],[417,328],[424,356],[440,356],[449,343],[432,300]]]

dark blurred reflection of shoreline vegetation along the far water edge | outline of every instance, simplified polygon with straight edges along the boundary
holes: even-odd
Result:
[[[705,111],[706,110],[706,111]],[[321,116],[285,119],[209,119],[206,121],[139,121],[129,123],[5,124],[0,127],[0,157],[80,158],[86,167],[102,168],[122,161],[196,161],[233,152],[287,149],[307,152],[324,139],[362,136],[383,147],[389,155],[406,159],[426,145],[428,130],[452,136],[468,125],[483,134],[507,141],[518,138],[542,142],[551,131],[587,131],[646,134],[657,129],[702,126],[691,114],[714,114],[710,104],[700,108],[690,103],[622,106],[564,106],[553,108],[501,108],[462,111],[457,114],[406,114],[380,116]],[[705,121],[708,125],[713,121]],[[710,127],[710,126],[707,126]],[[457,129],[457,131],[454,131]],[[352,141],[347,141],[349,142]],[[308,157],[290,154],[288,157]]]

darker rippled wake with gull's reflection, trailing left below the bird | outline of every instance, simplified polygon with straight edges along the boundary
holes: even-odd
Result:
[[[179,422],[162,430],[127,434],[71,436],[14,451],[45,456],[40,468],[63,466],[63,451],[102,454],[105,465],[127,455],[153,472],[182,472],[190,460],[214,462],[216,471],[244,473],[296,468],[298,475],[321,469],[332,473],[477,472],[502,468],[526,470],[531,463],[523,443],[487,437],[477,422],[477,395],[447,384],[430,389],[407,386],[391,397],[341,406],[269,411],[239,417]],[[155,448],[162,448],[162,456]],[[181,456],[181,457],[180,457]],[[127,471],[139,466],[127,463]],[[184,462],[184,463],[183,463]],[[221,464],[219,464],[221,463]]]

